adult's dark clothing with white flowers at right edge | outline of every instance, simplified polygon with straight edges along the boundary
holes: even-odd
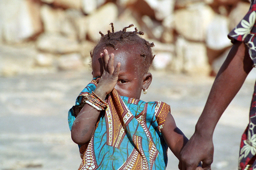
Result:
[[[233,29],[228,37],[231,42],[244,42],[256,66],[256,0],[251,0],[249,12]],[[249,125],[242,135],[240,144],[239,170],[256,170],[256,84],[249,113]]]

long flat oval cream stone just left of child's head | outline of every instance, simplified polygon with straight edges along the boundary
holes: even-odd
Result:
[[[36,47],[45,52],[65,54],[79,52],[80,45],[74,40],[60,34],[42,34],[37,38]]]

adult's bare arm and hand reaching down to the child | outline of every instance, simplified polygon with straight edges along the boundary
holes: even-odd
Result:
[[[252,68],[246,45],[236,42],[217,74],[194,135],[181,151],[182,170],[195,170],[200,161],[204,170],[211,169],[214,129]]]

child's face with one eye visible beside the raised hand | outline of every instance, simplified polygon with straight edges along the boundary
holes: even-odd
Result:
[[[117,50],[111,47],[105,47],[95,51],[95,54],[92,57],[93,77],[101,76],[103,73],[100,53],[102,53],[104,49],[108,50],[109,55],[111,53],[115,55],[114,68],[118,62],[121,63],[118,82],[115,85],[118,94],[120,96],[139,99],[143,85],[143,75],[139,69],[139,67],[143,67],[141,66],[142,57],[140,56],[139,49],[134,45],[126,45]]]

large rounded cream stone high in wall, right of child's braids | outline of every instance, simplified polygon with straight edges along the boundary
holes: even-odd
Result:
[[[193,41],[204,41],[206,29],[214,16],[210,6],[194,4],[174,12],[174,28],[178,34]]]

